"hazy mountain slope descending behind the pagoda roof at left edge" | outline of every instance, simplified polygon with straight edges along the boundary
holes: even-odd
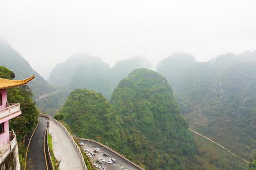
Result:
[[[55,87],[45,81],[35,70],[33,70],[27,60],[15,51],[7,42],[0,41],[0,65],[12,70],[15,74],[14,80],[26,79],[35,74],[33,81],[28,82],[34,97],[53,92]]]

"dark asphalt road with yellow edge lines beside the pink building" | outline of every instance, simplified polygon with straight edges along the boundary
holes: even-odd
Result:
[[[39,117],[39,124],[34,131],[29,132],[25,141],[25,146],[28,145],[27,159],[31,159],[32,164],[35,166],[34,170],[48,170],[49,162],[47,158],[46,149],[46,118]],[[33,134],[33,136],[32,136]],[[32,137],[31,137],[32,136]],[[45,147],[44,147],[45,140]],[[29,142],[30,141],[30,142]],[[29,165],[26,165],[29,166]]]

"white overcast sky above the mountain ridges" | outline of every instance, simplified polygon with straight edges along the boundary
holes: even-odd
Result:
[[[41,76],[86,52],[110,67],[175,52],[199,62],[256,50],[256,0],[0,0],[0,37]]]

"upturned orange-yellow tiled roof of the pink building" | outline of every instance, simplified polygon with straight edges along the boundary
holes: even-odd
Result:
[[[24,85],[24,84],[27,84],[33,78],[35,78],[35,75],[24,80],[9,80],[5,78],[0,78],[0,89]]]

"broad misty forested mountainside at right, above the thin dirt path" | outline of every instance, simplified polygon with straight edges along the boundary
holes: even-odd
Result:
[[[192,64],[174,91],[179,108],[192,129],[247,160],[256,148],[254,54],[247,51],[235,57],[228,53],[210,62]],[[174,74],[172,69],[167,73]],[[246,169],[238,168],[234,162],[230,166]]]

